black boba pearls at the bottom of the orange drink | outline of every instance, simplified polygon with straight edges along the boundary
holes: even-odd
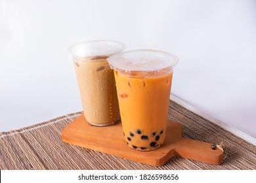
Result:
[[[125,134],[123,132],[123,136],[125,137],[125,142],[127,145],[129,145],[131,148],[135,150],[153,150],[156,148],[159,148],[161,146],[161,139],[163,137],[163,129],[161,131],[152,131],[150,135],[146,135],[142,133],[142,130],[137,129],[136,131],[129,131],[129,134]],[[135,142],[135,137],[138,138],[140,141],[148,141],[147,146],[137,146]]]

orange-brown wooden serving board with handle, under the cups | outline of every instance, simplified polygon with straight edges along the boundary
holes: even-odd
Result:
[[[171,121],[167,122],[163,145],[148,152],[132,150],[125,144],[121,123],[95,127],[86,122],[83,114],[63,129],[62,141],[153,166],[164,165],[173,156],[213,165],[219,165],[223,161],[222,150],[213,150],[207,142],[182,137],[182,125]]]

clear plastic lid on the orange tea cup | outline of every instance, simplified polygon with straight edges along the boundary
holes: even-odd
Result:
[[[107,59],[116,71],[160,71],[177,65],[179,58],[161,50],[129,50],[119,52]]]

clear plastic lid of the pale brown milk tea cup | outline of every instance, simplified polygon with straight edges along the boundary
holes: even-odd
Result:
[[[121,52],[126,48],[125,44],[116,41],[83,41],[72,44],[68,51],[72,56],[79,58],[108,58],[112,54]]]

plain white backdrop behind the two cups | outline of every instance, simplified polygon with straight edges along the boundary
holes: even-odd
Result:
[[[256,137],[256,1],[0,0],[0,131],[82,110],[70,43],[180,58],[172,93]]]

